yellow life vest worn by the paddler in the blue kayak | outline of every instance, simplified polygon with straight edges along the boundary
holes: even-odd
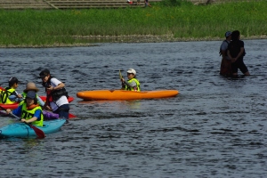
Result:
[[[27,103],[24,102],[22,105],[22,109],[21,109],[21,118],[25,118],[26,120],[34,117],[34,114],[36,112],[37,109],[40,109],[42,111],[42,108],[39,105],[35,105],[33,107],[33,109],[29,109],[30,107],[27,107]],[[43,112],[41,112],[41,116],[40,116],[40,120],[36,120],[34,122],[32,122],[32,125],[36,125],[36,126],[43,126],[43,121],[44,121],[44,115]]]

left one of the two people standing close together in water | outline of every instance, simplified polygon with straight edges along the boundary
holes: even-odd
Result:
[[[223,76],[231,76],[231,59],[227,55],[228,45],[231,42],[231,31],[225,33],[225,40],[220,47],[220,56],[222,55],[220,74]]]

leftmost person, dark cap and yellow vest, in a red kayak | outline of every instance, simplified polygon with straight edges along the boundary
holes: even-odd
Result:
[[[22,98],[22,95],[16,92],[16,89],[19,86],[20,81],[16,77],[11,77],[8,81],[9,87],[0,90],[0,103],[12,104],[15,101],[11,101],[8,97],[10,95],[16,95],[18,98]]]

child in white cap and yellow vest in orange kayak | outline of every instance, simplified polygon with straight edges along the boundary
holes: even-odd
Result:
[[[135,91],[135,92],[140,92],[140,83],[138,79],[136,79],[136,71],[135,69],[128,69],[127,70],[127,77],[128,80],[125,81],[125,78],[121,78],[122,82],[122,89],[123,90],[128,90],[128,91]]]

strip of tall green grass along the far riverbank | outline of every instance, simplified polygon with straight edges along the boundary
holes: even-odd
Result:
[[[151,36],[156,42],[212,40],[222,39],[226,30],[234,29],[243,37],[266,38],[266,9],[266,1],[257,1],[102,10],[0,10],[0,46],[86,44],[88,38],[136,35],[141,36],[134,37],[139,42]]]

